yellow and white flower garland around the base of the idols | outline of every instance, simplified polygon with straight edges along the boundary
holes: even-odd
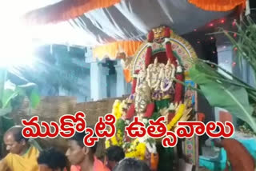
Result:
[[[122,116],[123,113],[123,103],[119,100],[114,101],[112,113],[117,118],[116,122],[116,129],[117,132],[114,137],[106,139],[106,148],[110,147],[110,145],[118,145],[121,146],[126,154],[126,157],[134,157],[138,158],[139,160],[144,160],[146,157],[146,150],[150,153],[157,153],[156,149],[156,140],[150,138],[148,136],[144,136],[142,138],[131,139],[130,141],[126,141],[126,133],[125,127],[129,125],[130,121],[125,120]],[[186,103],[180,104],[175,109],[176,113],[174,118],[166,124],[166,128],[168,130],[172,129],[174,125],[182,118],[183,113],[186,111]],[[161,116],[160,113],[154,113],[150,119],[154,121]],[[143,122],[145,123],[146,127],[148,126],[148,118],[143,118]]]

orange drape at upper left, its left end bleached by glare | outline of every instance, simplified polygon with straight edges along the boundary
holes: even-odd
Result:
[[[26,22],[48,24],[63,22],[98,8],[114,6],[121,0],[62,0],[50,6],[33,10],[24,16]]]

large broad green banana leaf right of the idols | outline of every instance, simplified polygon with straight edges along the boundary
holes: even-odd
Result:
[[[252,117],[253,107],[249,103],[245,88],[232,84],[235,83],[234,80],[219,74],[204,62],[194,62],[189,74],[200,86],[210,105],[228,110],[256,131],[256,122]]]

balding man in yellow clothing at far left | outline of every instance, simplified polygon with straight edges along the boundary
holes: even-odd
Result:
[[[38,171],[39,150],[22,136],[22,126],[16,125],[8,129],[4,142],[10,153],[0,161],[1,171]]]

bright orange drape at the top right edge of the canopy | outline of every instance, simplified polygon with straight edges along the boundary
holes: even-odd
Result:
[[[246,0],[188,0],[194,6],[202,10],[228,11],[236,6],[246,6]]]

